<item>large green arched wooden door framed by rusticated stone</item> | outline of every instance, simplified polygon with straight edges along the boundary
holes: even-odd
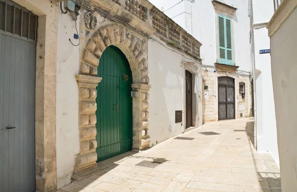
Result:
[[[107,47],[99,60],[97,162],[132,150],[132,72],[123,52]]]

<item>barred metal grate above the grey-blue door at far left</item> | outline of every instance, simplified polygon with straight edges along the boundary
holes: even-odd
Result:
[[[11,0],[0,0],[0,30],[36,41],[38,17]]]

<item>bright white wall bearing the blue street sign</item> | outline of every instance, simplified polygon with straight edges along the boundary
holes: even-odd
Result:
[[[261,49],[270,49],[270,39],[266,25],[261,23],[267,23],[272,17],[274,13],[273,1],[252,0],[251,7],[257,151],[271,153],[275,162],[279,165],[270,54],[259,53]]]

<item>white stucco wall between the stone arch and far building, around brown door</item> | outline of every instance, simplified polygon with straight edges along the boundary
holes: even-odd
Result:
[[[184,111],[183,60],[193,62],[181,54],[167,48],[166,44],[148,40],[148,76],[149,84],[149,135],[151,145],[178,135],[184,131],[184,123],[175,123],[175,111]],[[200,64],[198,74],[201,73]],[[196,77],[198,77],[198,74]],[[201,80],[195,83],[201,90]],[[201,97],[201,96],[200,96]],[[196,98],[197,99],[197,98]],[[194,98],[193,98],[194,100]],[[196,126],[201,125],[201,100],[197,99]]]

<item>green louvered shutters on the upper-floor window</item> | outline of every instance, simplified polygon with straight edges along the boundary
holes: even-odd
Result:
[[[219,63],[233,65],[232,22],[218,15]]]

